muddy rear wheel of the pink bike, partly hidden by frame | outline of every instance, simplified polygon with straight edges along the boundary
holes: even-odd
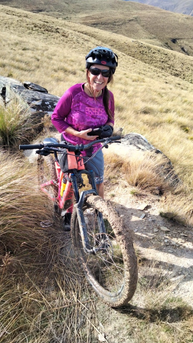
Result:
[[[37,177],[38,184],[44,184],[50,180],[57,180],[56,167],[51,155],[38,156],[37,159]],[[58,187],[49,185],[45,188],[48,195],[52,198],[58,197]],[[53,202],[53,212],[60,214],[61,210],[58,208],[57,202]]]

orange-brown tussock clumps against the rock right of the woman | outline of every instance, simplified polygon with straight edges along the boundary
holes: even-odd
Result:
[[[105,155],[105,172],[111,182],[118,182],[123,177],[131,194],[137,196],[150,193],[161,196],[178,183],[169,160],[162,154],[146,153],[142,159],[133,158],[129,161],[117,154]]]

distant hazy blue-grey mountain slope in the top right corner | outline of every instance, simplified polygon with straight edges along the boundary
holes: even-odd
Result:
[[[125,0],[144,3],[162,8],[166,11],[182,13],[186,15],[193,15],[193,1],[192,0]]]

